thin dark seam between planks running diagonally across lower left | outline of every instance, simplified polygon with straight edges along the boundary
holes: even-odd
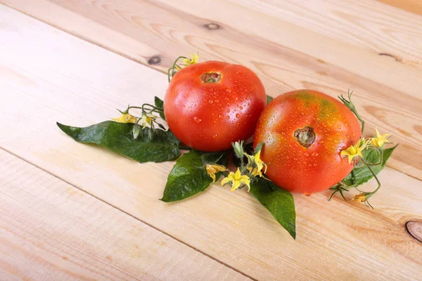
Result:
[[[222,264],[223,266],[226,266],[227,268],[230,268],[231,270],[234,270],[234,271],[236,271],[237,273],[239,273],[239,274],[241,274],[241,275],[243,275],[243,276],[245,276],[245,277],[248,277],[250,280],[257,281],[257,279],[255,279],[254,277],[252,277],[252,276],[250,276],[250,275],[248,275],[248,274],[246,274],[246,273],[243,273],[241,270],[238,270],[237,268],[234,268],[233,266],[230,266],[229,264],[224,263],[223,261],[219,261],[219,259],[216,259],[214,256],[211,256],[210,254],[207,254],[207,253],[205,253],[204,251],[201,251],[200,249],[198,249],[198,248],[196,248],[196,247],[193,247],[191,244],[188,244],[188,243],[184,242],[183,240],[179,240],[177,237],[174,237],[174,236],[173,236],[173,235],[171,235],[170,233],[167,233],[167,232],[165,232],[164,230],[161,230],[160,228],[157,228],[157,227],[155,227],[155,226],[151,225],[150,223],[148,223],[148,222],[146,222],[146,221],[143,221],[143,220],[141,220],[140,218],[137,218],[136,216],[134,216],[134,215],[132,215],[132,214],[128,213],[127,211],[124,211],[123,209],[120,209],[119,207],[116,207],[115,205],[110,204],[109,202],[107,202],[107,201],[105,201],[105,200],[101,199],[100,197],[97,197],[96,195],[94,195],[94,194],[92,194],[92,193],[90,193],[90,192],[87,192],[86,190],[83,190],[82,188],[79,188],[77,185],[72,184],[72,183],[70,183],[69,181],[66,181],[64,178],[61,178],[60,176],[57,176],[56,174],[53,174],[51,171],[48,171],[48,170],[46,170],[46,169],[42,168],[41,166],[38,166],[37,164],[34,164],[34,163],[32,163],[32,162],[28,161],[27,159],[25,159],[25,158],[23,158],[23,157],[20,157],[19,155],[16,155],[15,153],[11,152],[10,150],[7,150],[6,148],[3,148],[3,147],[1,147],[1,146],[0,146],[0,150],[3,150],[4,152],[7,152],[8,154],[13,155],[14,157],[17,157],[18,159],[21,159],[23,162],[26,162],[27,164],[30,164],[30,165],[32,165],[32,166],[34,166],[34,167],[36,167],[37,169],[39,169],[39,170],[41,170],[41,171],[44,171],[46,174],[49,174],[49,175],[53,176],[54,178],[58,178],[60,181],[63,181],[64,183],[68,183],[68,185],[71,185],[71,186],[73,186],[74,188],[77,188],[78,190],[80,190],[80,191],[82,191],[82,192],[86,193],[87,195],[89,195],[89,196],[91,196],[91,197],[94,197],[96,200],[99,200],[99,201],[101,201],[101,202],[103,202],[103,203],[105,203],[105,204],[108,204],[110,207],[113,207],[114,209],[117,209],[118,211],[121,211],[122,213],[127,214],[127,216],[130,216],[130,217],[132,217],[132,218],[136,219],[136,221],[140,221],[141,223],[146,224],[146,226],[149,226],[149,227],[151,227],[151,228],[153,228],[153,229],[155,229],[155,230],[159,231],[160,233],[162,233],[162,234],[164,234],[164,235],[167,235],[168,237],[170,237],[170,238],[172,238],[172,239],[176,240],[177,242],[180,242],[181,244],[184,244],[184,245],[186,245],[187,247],[189,247],[189,248],[191,248],[191,249],[193,249],[193,250],[195,250],[195,251],[198,251],[200,254],[203,254],[204,256],[207,256],[208,258],[212,259],[213,261],[217,261],[217,263],[220,263],[220,264]]]

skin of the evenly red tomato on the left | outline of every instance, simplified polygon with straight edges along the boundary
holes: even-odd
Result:
[[[219,73],[205,83],[204,73]],[[222,151],[252,136],[267,96],[257,75],[242,65],[207,61],[182,68],[164,100],[167,124],[182,143],[201,151]]]

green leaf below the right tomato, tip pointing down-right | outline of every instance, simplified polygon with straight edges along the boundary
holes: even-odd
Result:
[[[263,178],[250,183],[250,192],[296,239],[296,212],[292,194]]]

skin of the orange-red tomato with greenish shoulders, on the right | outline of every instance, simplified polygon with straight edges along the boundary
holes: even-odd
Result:
[[[295,131],[310,126],[315,140],[308,148]],[[264,143],[261,159],[268,178],[291,192],[312,193],[331,188],[353,169],[341,150],[357,143],[361,129],[354,114],[325,93],[299,90],[284,93],[265,107],[254,135]]]

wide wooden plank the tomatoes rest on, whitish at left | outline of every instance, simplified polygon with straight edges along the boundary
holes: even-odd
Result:
[[[213,185],[165,204],[172,162],[138,164],[75,143],[54,123],[101,122],[115,107],[162,97],[166,77],[8,8],[1,14],[0,104],[12,105],[2,108],[1,147],[256,279],[421,279],[422,245],[404,229],[422,217],[421,181],[386,169],[375,211],[328,203],[328,192],[295,196],[296,241],[245,190]]]

